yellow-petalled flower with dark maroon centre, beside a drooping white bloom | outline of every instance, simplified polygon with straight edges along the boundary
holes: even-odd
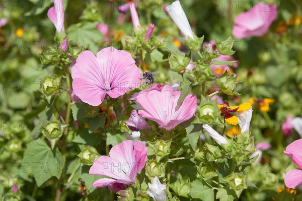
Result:
[[[252,108],[252,105],[250,103],[243,103],[239,106],[224,106],[224,105],[218,105],[218,108],[220,110],[220,114],[224,116],[225,122],[229,123],[231,125],[237,125],[238,124],[238,117],[236,116],[240,112],[247,111]],[[231,112],[231,113],[230,113]],[[236,113],[233,115],[232,113]]]

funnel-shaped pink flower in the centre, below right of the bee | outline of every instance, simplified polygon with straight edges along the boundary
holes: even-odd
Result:
[[[165,85],[161,91],[152,90],[141,93],[136,101],[142,106],[138,114],[160,124],[160,127],[171,130],[179,123],[190,119],[196,112],[197,97],[188,95],[178,110],[175,110],[180,91],[174,91]]]

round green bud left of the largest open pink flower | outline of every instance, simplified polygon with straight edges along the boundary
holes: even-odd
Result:
[[[59,76],[46,76],[40,80],[40,88],[42,93],[45,96],[52,96],[54,95],[60,88],[60,80]]]

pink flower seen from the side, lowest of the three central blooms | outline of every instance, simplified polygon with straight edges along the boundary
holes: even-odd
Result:
[[[93,183],[93,187],[109,186],[115,192],[126,189],[126,184],[135,183],[137,172],[144,168],[148,149],[142,143],[130,140],[112,147],[109,156],[101,156],[89,170],[89,174],[112,177],[102,178]]]

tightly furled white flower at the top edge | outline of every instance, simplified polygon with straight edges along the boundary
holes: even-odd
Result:
[[[171,16],[172,20],[180,29],[182,35],[188,40],[188,37],[194,39],[193,31],[189,24],[188,18],[181,7],[179,1],[173,2],[170,6],[167,6],[166,11]]]

